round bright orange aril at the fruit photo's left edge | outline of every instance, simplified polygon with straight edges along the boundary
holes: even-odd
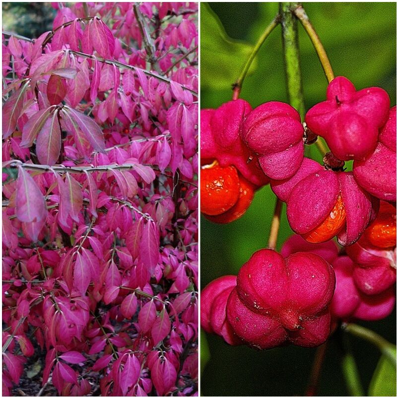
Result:
[[[219,215],[232,208],[240,195],[240,181],[233,166],[204,166],[200,172],[201,212]]]

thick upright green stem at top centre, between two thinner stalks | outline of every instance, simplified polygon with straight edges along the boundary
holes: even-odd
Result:
[[[293,13],[293,9],[297,6],[298,3],[296,2],[281,2],[280,16],[288,99],[291,106],[299,112],[303,120],[305,117],[305,104],[302,92],[297,19]]]

